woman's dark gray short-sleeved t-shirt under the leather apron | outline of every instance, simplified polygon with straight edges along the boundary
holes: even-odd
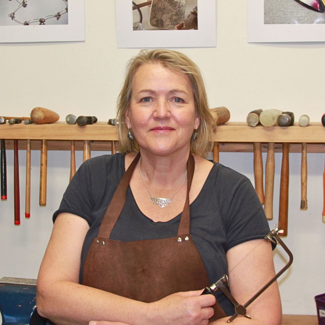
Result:
[[[69,212],[84,218],[88,230],[81,255],[80,283],[86,254],[110,200],[125,173],[124,154],[102,155],[84,162],[66,189],[57,215]],[[149,194],[148,194],[149,200]],[[153,222],[138,208],[130,187],[110,239],[133,241],[174,237],[180,214],[167,222]],[[264,210],[250,180],[214,162],[198,197],[190,204],[190,234],[201,255],[210,283],[227,274],[227,250],[261,239],[269,232]],[[216,297],[227,313],[234,308],[219,290]]]

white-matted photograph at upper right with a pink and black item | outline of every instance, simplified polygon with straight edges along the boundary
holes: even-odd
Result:
[[[248,42],[325,41],[325,1],[247,0]]]

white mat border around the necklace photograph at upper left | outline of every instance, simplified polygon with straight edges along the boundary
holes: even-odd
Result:
[[[0,26],[0,43],[85,40],[84,0],[69,0],[67,25]]]

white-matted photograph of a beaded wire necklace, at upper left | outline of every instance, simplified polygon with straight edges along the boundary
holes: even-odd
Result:
[[[84,0],[0,1],[0,43],[84,40]]]

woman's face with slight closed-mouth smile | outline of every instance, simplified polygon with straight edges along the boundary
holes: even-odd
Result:
[[[140,149],[161,156],[188,154],[193,129],[200,124],[188,75],[159,63],[140,66],[125,117]]]

